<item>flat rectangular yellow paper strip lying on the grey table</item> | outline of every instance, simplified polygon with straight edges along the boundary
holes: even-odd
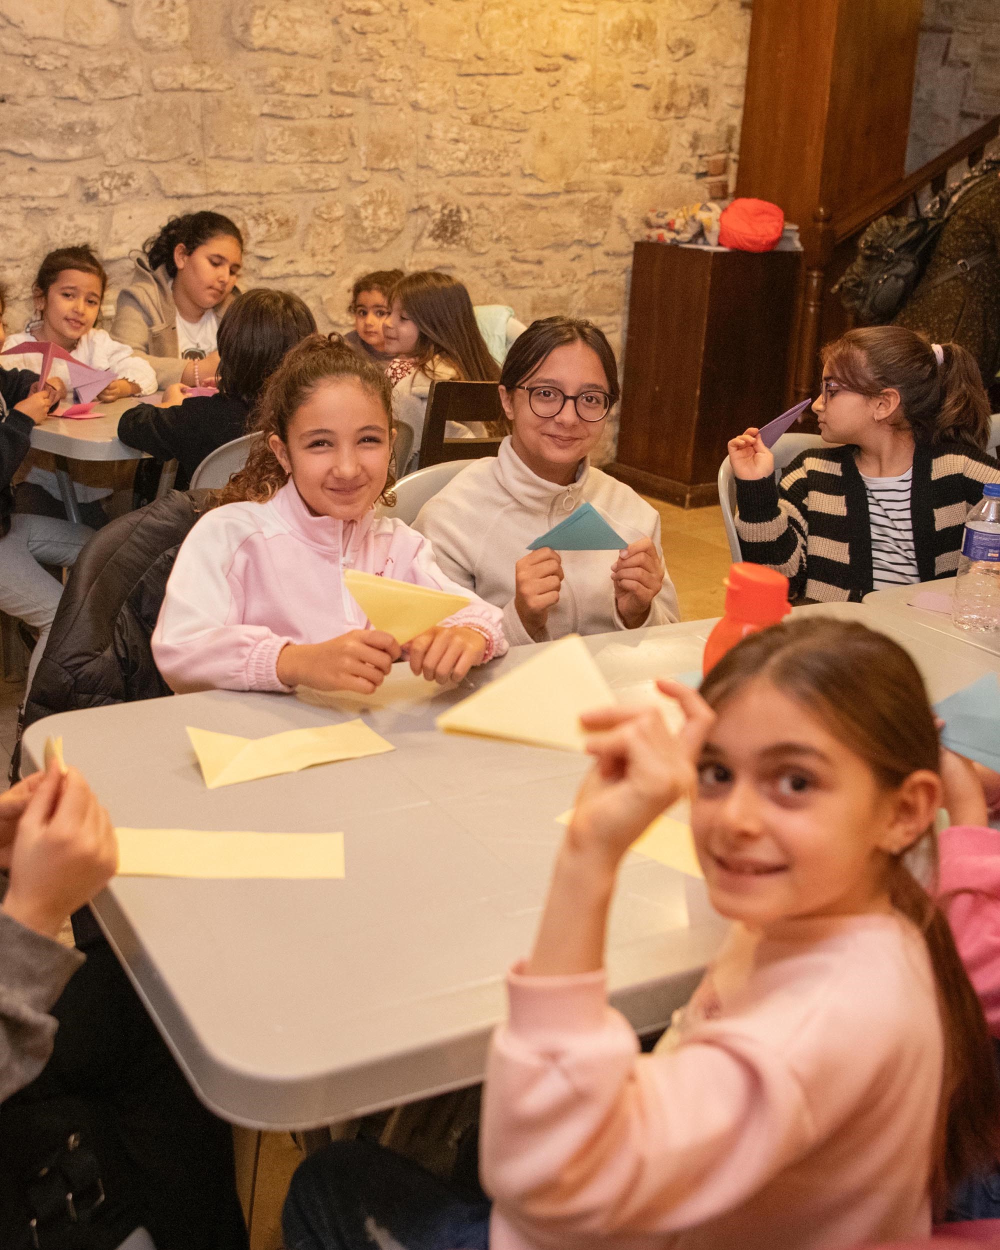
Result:
[[[116,829],[119,876],[328,880],[344,876],[344,834]]]

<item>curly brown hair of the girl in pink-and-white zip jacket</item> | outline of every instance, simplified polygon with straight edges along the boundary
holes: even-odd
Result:
[[[276,434],[288,444],[289,426],[302,404],[324,382],[342,379],[355,379],[379,400],[391,432],[392,388],[381,369],[358,356],[341,335],[311,334],[288,351],[268,379],[254,412],[252,432],[258,438],[250,446],[246,464],[229,479],[229,485],[216,492],[214,504],[236,504],[244,500],[265,504],[276,495],[289,479],[268,440]],[[389,475],[382,488],[386,502],[390,501],[386,496],[395,485],[394,468],[390,459]]]

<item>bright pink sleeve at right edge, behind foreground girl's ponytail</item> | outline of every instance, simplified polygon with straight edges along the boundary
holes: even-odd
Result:
[[[990,1032],[1000,1038],[1000,832],[952,825],[939,854],[939,901]]]

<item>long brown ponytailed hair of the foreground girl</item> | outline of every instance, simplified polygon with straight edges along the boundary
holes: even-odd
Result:
[[[906,651],[884,634],[830,618],[775,625],[728,651],[701,695],[718,711],[756,678],[808,709],[884,789],[896,789],[919,769],[938,771],[938,730],[924,681]],[[932,828],[918,841],[925,840],[936,868]],[[998,1159],[1000,1080],[982,1008],[948,920],[904,856],[885,856],[885,886],[892,906],[924,935],[938,986],[945,1061],[929,1181],[940,1209],[956,1184]]]

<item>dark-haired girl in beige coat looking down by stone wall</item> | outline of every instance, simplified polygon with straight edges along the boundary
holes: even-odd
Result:
[[[219,324],[241,266],[242,235],[229,218],[171,218],[119,291],[111,334],[148,358],[158,386],[204,386],[219,368]]]

